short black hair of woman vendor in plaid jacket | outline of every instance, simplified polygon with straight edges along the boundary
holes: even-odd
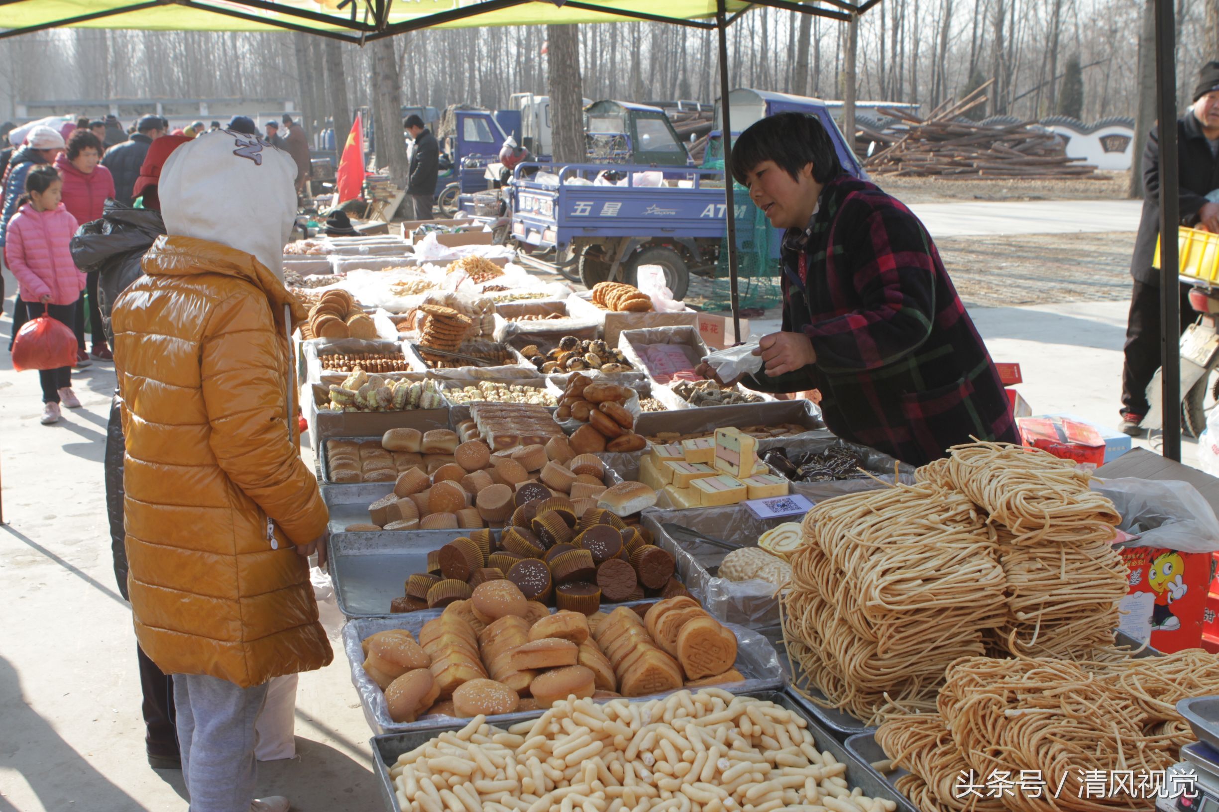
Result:
[[[834,141],[817,118],[797,112],[783,112],[755,123],[733,144],[731,168],[736,183],[763,161],[774,161],[792,178],[805,166],[813,165],[813,179],[829,183],[842,174],[842,163]]]

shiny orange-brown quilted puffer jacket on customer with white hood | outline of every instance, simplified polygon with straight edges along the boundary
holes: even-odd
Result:
[[[140,646],[167,674],[243,688],[321,668],[333,654],[293,546],[329,521],[288,415],[284,305],[304,308],[218,243],[161,237],[144,272],[112,319]]]

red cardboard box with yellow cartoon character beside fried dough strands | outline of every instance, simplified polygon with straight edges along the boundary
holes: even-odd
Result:
[[[1214,560],[1157,547],[1118,551],[1130,575],[1121,630],[1167,654],[1201,646]]]

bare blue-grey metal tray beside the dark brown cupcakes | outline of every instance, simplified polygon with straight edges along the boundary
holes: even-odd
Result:
[[[339,611],[347,618],[389,616],[390,601],[405,594],[406,579],[428,571],[428,554],[467,533],[460,529],[332,533],[327,554]]]

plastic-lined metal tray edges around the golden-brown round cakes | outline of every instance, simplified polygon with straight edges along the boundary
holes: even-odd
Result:
[[[611,608],[611,607],[605,607]],[[553,610],[551,610],[553,611]],[[364,712],[364,721],[374,733],[406,733],[410,730],[436,729],[452,723],[450,717],[436,716],[418,719],[410,723],[397,723],[389,718],[389,707],[385,705],[385,694],[364,673],[364,655],[361,641],[378,632],[386,629],[407,629],[418,636],[419,629],[428,621],[438,617],[439,610],[424,610],[421,612],[407,612],[385,618],[362,618],[349,621],[343,627],[343,647],[346,651],[347,661],[351,666],[351,684],[355,685],[360,695],[360,705]],[[779,668],[779,656],[774,646],[769,644],[757,632],[727,624],[736,635],[736,669],[745,677],[744,683],[719,685],[731,694],[752,694],[755,691],[783,691],[784,677]],[[672,691],[670,691],[672,693]],[[653,696],[635,697],[639,700],[668,696],[658,694]],[[517,713],[505,713],[490,717],[494,724],[516,724],[522,719],[536,716],[534,711],[518,711]]]

